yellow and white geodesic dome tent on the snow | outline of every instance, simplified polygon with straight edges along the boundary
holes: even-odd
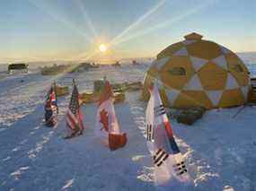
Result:
[[[250,76],[231,50],[191,33],[157,55],[145,74],[142,100],[157,80],[163,104],[172,108],[234,107],[247,101]]]

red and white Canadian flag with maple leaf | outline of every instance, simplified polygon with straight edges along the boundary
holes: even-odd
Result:
[[[105,82],[96,116],[95,135],[111,151],[124,147],[127,135],[120,132],[119,123],[113,106],[110,82]]]

